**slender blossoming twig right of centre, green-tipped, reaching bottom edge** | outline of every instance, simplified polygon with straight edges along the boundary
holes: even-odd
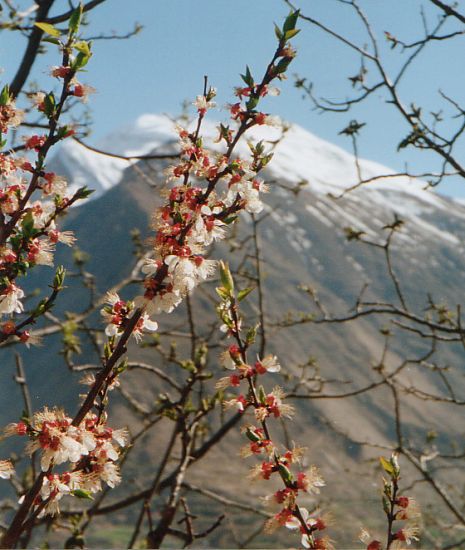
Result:
[[[247,394],[240,394],[224,402],[225,407],[236,408],[242,413],[248,408],[254,409],[255,418],[259,423],[259,427],[248,425],[244,428],[249,444],[242,449],[241,454],[244,457],[263,454],[265,457],[260,465],[252,469],[251,479],[270,480],[271,476],[277,473],[284,484],[284,489],[267,497],[269,502],[279,504],[281,510],[267,521],[265,529],[268,532],[280,526],[299,529],[302,534],[301,542],[305,548],[332,548],[328,537],[316,536],[319,531],[326,528],[326,521],[320,517],[310,517],[308,510],[297,503],[299,492],[319,493],[319,488],[325,484],[318,469],[312,466],[307,473],[293,474],[291,466],[301,462],[304,449],[294,446],[292,450],[286,449],[281,454],[273,442],[268,427],[269,418],[290,418],[294,409],[284,403],[284,392],[279,386],[270,393],[266,393],[263,386],[257,387],[259,376],[279,372],[281,367],[277,358],[272,355],[259,359],[253,366],[249,364],[247,354],[255,342],[258,327],[250,328],[246,336],[242,336],[239,302],[250,293],[251,289],[237,292],[231,272],[223,263],[220,266],[220,273],[222,286],[217,288],[217,293],[222,301],[218,306],[218,313],[224,323],[223,330],[228,336],[234,338],[236,343],[230,345],[222,356],[225,368],[234,373],[219,380],[217,388],[238,387],[242,381],[247,383]]]

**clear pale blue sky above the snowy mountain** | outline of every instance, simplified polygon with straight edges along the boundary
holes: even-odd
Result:
[[[27,2],[19,0],[20,5]],[[66,6],[65,0],[58,4]],[[296,0],[295,4],[315,18],[363,45],[363,31],[351,10],[337,0]],[[383,31],[406,41],[422,36],[420,6],[425,6],[431,26],[438,10],[420,0],[360,0],[383,46],[388,66],[395,67],[397,50],[391,52]],[[240,83],[238,73],[249,64],[252,72],[262,73],[274,51],[273,22],[280,23],[288,13],[282,0],[107,0],[89,16],[89,35],[125,33],[139,22],[143,31],[128,41],[95,41],[94,57],[85,81],[97,89],[90,98],[94,129],[90,142],[148,112],[177,114],[184,100],[201,91],[203,75],[218,87],[220,105],[232,99],[232,88]],[[342,47],[320,30],[301,23],[302,32],[294,42],[298,58],[290,71],[315,82],[317,95],[334,99],[350,91],[348,77],[359,69],[358,55]],[[451,22],[445,29],[455,29]],[[426,110],[437,110],[442,100],[438,88],[465,104],[463,47],[465,38],[436,44],[422,53],[412,77],[401,88],[404,101],[415,99]],[[8,81],[22,54],[19,35],[0,35],[0,65]],[[46,82],[48,68],[56,64],[56,52],[37,62],[34,75]],[[406,162],[413,169],[436,169],[434,156],[409,148],[396,152],[407,126],[395,111],[377,97],[353,113],[321,115],[293,87],[293,78],[282,83],[282,94],[268,102],[267,109],[290,122],[296,122],[316,135],[350,150],[348,138],[338,136],[351,119],[366,122],[360,138],[360,154],[402,170]],[[449,109],[450,110],[450,109]],[[428,160],[426,163],[425,160]],[[465,183],[441,188],[442,192],[465,197]]]

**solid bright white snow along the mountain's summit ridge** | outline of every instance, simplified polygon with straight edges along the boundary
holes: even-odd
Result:
[[[216,124],[206,120],[202,130],[207,146],[220,150],[222,146],[214,143]],[[281,136],[281,129],[265,126],[253,128],[249,135],[254,140],[270,142]],[[166,146],[172,147],[176,141],[174,120],[166,115],[145,114],[133,124],[109,134],[97,144],[97,148],[117,155],[141,156],[165,152]],[[245,140],[238,144],[239,154],[245,154],[247,149]],[[53,168],[65,175],[72,187],[88,185],[95,189],[93,198],[119,183],[124,170],[134,162],[137,161],[95,153],[72,140],[63,144],[52,161]],[[60,166],[56,166],[57,163]],[[360,159],[359,167],[363,179],[394,174],[393,170],[369,160]],[[358,181],[353,155],[296,124],[289,127],[276,145],[270,173],[288,183],[306,181],[310,190],[323,195],[338,194]],[[424,182],[408,177],[387,177],[362,187],[357,194],[369,190],[372,201],[383,203],[404,215],[428,209],[428,205],[429,208],[446,208],[437,194],[424,190],[424,185]]]

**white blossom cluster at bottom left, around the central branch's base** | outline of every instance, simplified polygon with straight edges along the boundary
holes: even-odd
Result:
[[[55,515],[59,501],[65,495],[86,497],[102,489],[102,483],[115,487],[121,480],[116,461],[119,449],[128,442],[125,429],[113,430],[105,417],[88,413],[79,425],[61,409],[35,413],[30,420],[10,424],[6,436],[27,436],[26,452],[40,453],[40,467],[45,472],[35,506],[40,514]],[[53,473],[55,466],[67,464],[66,471]],[[8,464],[0,462],[0,472],[10,472]],[[7,477],[6,474],[0,477]]]

